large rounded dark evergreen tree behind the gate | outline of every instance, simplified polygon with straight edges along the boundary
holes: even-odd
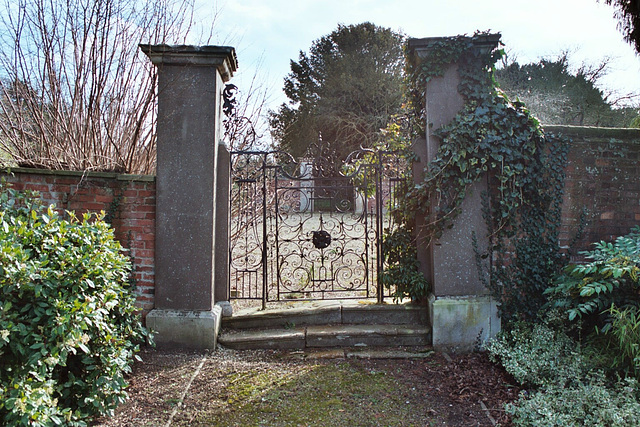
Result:
[[[322,141],[344,159],[371,147],[402,103],[403,36],[371,23],[339,25],[291,61],[288,103],[271,113],[279,148],[294,156]]]

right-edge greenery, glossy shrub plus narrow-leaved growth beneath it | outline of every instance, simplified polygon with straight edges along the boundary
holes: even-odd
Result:
[[[640,227],[583,254],[545,291],[549,306],[587,332],[605,368],[640,378]]]

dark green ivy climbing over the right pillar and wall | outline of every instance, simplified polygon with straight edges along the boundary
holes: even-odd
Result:
[[[483,216],[489,248],[477,251],[479,259],[491,262],[479,274],[501,302],[503,318],[531,318],[563,262],[557,237],[568,145],[564,138],[545,134],[522,103],[500,91],[493,72],[503,51],[482,49],[487,39],[491,35],[486,33],[437,39],[425,57],[407,60],[407,105],[418,124],[412,139],[425,135],[427,82],[452,63],[458,64],[464,106],[435,131],[437,154],[422,179],[406,187],[396,214],[407,222],[426,217],[415,232],[430,243],[455,226],[471,185],[487,180]]]

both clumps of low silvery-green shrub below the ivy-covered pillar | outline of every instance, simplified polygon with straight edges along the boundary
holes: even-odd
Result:
[[[506,406],[518,426],[635,426],[637,380],[610,383],[577,342],[544,324],[516,323],[488,345],[519,383],[532,388]]]

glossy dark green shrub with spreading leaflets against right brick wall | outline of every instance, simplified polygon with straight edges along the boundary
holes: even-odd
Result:
[[[640,305],[640,227],[614,243],[595,243],[594,250],[582,254],[591,262],[569,266],[555,286],[545,291],[555,307],[566,309],[574,320],[598,317],[612,305]]]

